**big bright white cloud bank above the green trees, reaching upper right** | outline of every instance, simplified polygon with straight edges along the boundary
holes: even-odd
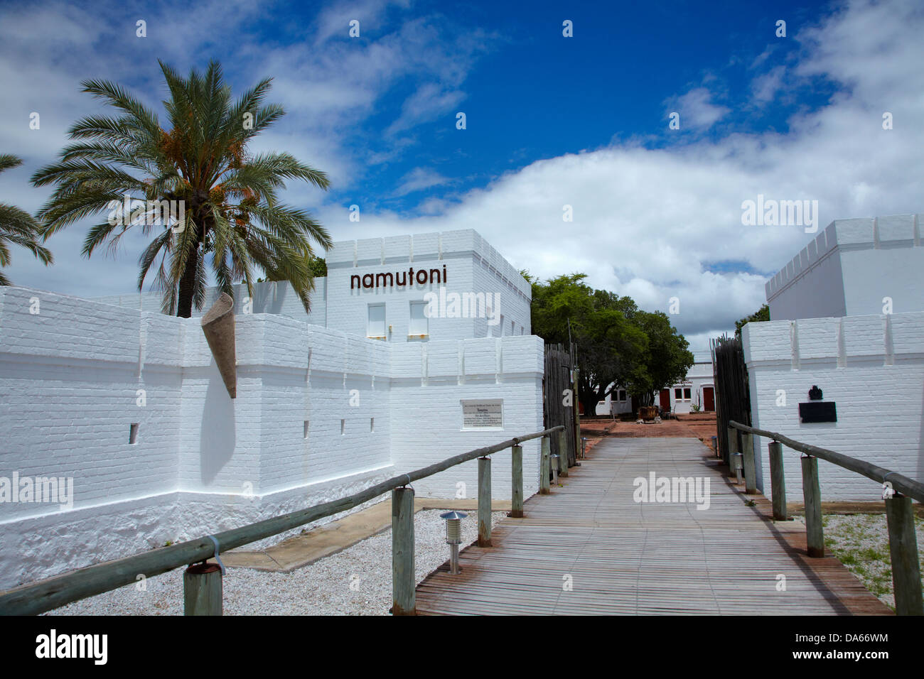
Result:
[[[869,22],[875,37],[857,41]],[[733,331],[736,319],[760,307],[766,279],[710,273],[703,263],[745,261],[753,271],[775,273],[814,237],[800,226],[742,225],[742,200],[759,193],[819,200],[819,228],[833,219],[924,212],[922,34],[924,19],[904,4],[853,4],[796,37],[807,50],[803,77],[824,75],[844,87],[849,82],[850,90],[796,115],[788,134],[566,154],[469,191],[439,216],[366,215],[363,231],[474,225],[515,267],[541,277],[587,273],[590,285],[631,295],[646,309],[666,310],[668,299],[679,297],[672,320],[693,348],[708,348],[709,337]],[[885,89],[883,72],[898,74]],[[902,112],[896,117],[902,125],[882,130],[881,110]],[[565,204],[573,207],[573,223],[562,221]],[[345,217],[331,218],[340,233]]]

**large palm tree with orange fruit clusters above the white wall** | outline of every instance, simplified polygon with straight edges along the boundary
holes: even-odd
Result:
[[[188,318],[193,304],[201,309],[208,259],[228,294],[243,280],[252,295],[256,265],[267,278],[290,282],[309,309],[311,241],[329,248],[331,237],[308,212],[278,202],[277,190],[285,188],[286,179],[323,189],[329,181],[289,153],[249,152],[249,140],[285,115],[282,106],[263,103],[272,79],[262,79],[232,102],[217,63],[211,62],[204,75],[192,69],[186,79],[158,63],[169,90],[164,101],[169,131],[119,85],[81,83],[83,91],[115,106],[120,115],[79,120],[69,130],[75,142],[57,163],[32,176],[35,186],[56,185],[38,213],[43,236],[108,211],[84,239],[82,253],[89,258],[103,244],[115,252],[133,225],[144,235],[154,231],[139,258],[138,288],[159,257],[154,288],[164,291],[164,313]],[[174,209],[164,211],[159,206],[168,203],[163,201],[175,201]]]

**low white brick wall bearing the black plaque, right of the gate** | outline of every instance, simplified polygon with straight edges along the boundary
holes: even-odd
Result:
[[[754,427],[924,481],[924,312],[751,322],[742,341]],[[813,385],[835,402],[836,422],[799,421]],[[767,443],[755,437],[769,496]],[[801,455],[783,450],[786,499],[801,503]],[[881,499],[881,484],[842,467],[819,460],[819,474],[824,501]]]

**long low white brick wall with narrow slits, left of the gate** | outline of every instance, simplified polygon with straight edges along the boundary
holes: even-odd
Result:
[[[391,345],[278,315],[236,321],[232,400],[198,319],[0,288],[0,477],[74,479],[64,511],[0,503],[0,588],[321,503],[541,429],[537,337]],[[503,430],[462,431],[468,397],[503,399]],[[525,446],[528,494],[538,452]],[[498,457],[493,495],[509,498],[509,453]],[[461,480],[475,497],[475,468],[414,487],[456,497]]]

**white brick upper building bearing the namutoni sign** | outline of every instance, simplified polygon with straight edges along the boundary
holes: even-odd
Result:
[[[365,337],[369,306],[383,304],[385,339],[395,343],[522,336],[531,332],[529,282],[471,229],[339,241],[327,252],[326,260],[328,274],[315,279],[310,314],[306,315],[298,296],[286,282],[254,284],[249,302],[252,313],[279,314]],[[424,283],[418,279],[421,271],[427,274]],[[426,301],[429,293],[446,299],[443,309],[436,310],[447,313],[428,319],[428,336],[411,336],[410,304]],[[194,309],[193,316],[201,316],[219,295],[217,288],[209,288],[203,309]],[[468,313],[453,318],[453,295],[480,296],[486,300],[490,296],[491,313],[476,305]],[[244,313],[247,287],[236,285],[233,297],[235,313]],[[146,292],[98,297],[96,301],[159,311],[161,298],[160,293]]]

